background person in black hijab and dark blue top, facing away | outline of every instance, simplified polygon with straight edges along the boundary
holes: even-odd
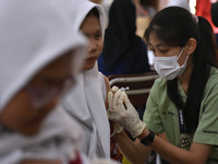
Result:
[[[135,74],[150,71],[145,43],[136,36],[136,13],[132,0],[114,0],[109,10],[102,54],[98,68],[110,74]]]

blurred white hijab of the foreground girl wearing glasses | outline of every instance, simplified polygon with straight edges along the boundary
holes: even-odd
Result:
[[[66,16],[45,0],[0,2],[0,113],[40,69],[74,49],[78,71],[86,55],[86,39],[72,33]],[[0,163],[22,160],[74,159],[82,132],[62,108],[52,112],[34,137],[9,131],[0,125]]]

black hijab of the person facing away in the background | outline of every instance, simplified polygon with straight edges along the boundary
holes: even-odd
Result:
[[[138,42],[136,32],[136,13],[132,0],[114,0],[109,10],[109,24],[104,42],[104,63],[111,71],[118,60],[131,56],[131,45]]]

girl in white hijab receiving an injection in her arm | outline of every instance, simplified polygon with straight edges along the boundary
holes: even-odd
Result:
[[[110,129],[106,112],[109,82],[98,72],[97,58],[102,49],[105,12],[98,4],[87,0],[52,0],[70,15],[72,28],[81,30],[89,39],[88,57],[78,83],[63,98],[62,106],[75,118],[85,131],[83,152],[90,157],[110,157]],[[96,12],[95,14],[89,12]],[[93,11],[95,10],[95,11]],[[89,14],[88,14],[89,13]]]

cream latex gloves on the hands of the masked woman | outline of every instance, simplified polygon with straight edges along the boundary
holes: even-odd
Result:
[[[122,126],[133,138],[138,137],[143,132],[146,124],[140,119],[125,92],[118,90],[113,94],[110,91],[108,93],[108,117],[110,120]]]

